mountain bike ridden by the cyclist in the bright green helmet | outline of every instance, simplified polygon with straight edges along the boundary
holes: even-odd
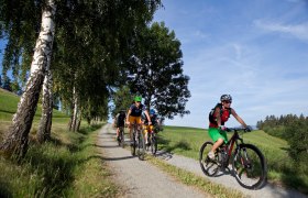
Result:
[[[143,161],[145,156],[145,142],[142,130],[136,123],[133,123],[133,134],[131,143],[131,153],[133,156],[138,154],[139,160]]]

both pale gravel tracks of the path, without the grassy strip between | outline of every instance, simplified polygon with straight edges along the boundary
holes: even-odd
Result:
[[[157,167],[146,161],[132,157],[129,150],[118,146],[114,141],[116,131],[111,124],[105,125],[99,134],[98,146],[102,147],[102,155],[114,173],[114,179],[123,187],[123,197],[209,197],[194,188],[178,184]],[[206,177],[199,162],[193,158],[158,152],[157,157],[166,163],[189,170],[217,184],[242,191],[246,197],[266,198],[304,198],[307,196],[295,190],[288,190],[267,184],[258,190],[241,187],[235,178],[228,173],[217,177]]]

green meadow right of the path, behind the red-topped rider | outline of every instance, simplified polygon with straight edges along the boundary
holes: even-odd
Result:
[[[228,133],[230,139],[232,133]],[[158,133],[158,150],[198,160],[202,143],[210,141],[208,131],[197,128],[165,127]],[[256,145],[267,161],[268,182],[295,188],[308,194],[308,176],[297,170],[295,162],[288,156],[286,141],[256,130],[242,133],[245,143]]]

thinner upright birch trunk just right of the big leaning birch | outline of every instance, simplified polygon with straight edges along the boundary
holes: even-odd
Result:
[[[51,139],[52,118],[53,118],[53,76],[47,63],[47,70],[43,84],[42,117],[37,130],[37,141],[40,143]]]

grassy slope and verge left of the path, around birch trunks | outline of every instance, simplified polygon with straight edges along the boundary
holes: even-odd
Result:
[[[18,96],[0,89],[0,141],[18,101]],[[40,113],[38,106],[23,161],[16,164],[0,156],[0,197],[117,197],[119,189],[96,146],[98,129],[105,123],[82,122],[79,132],[69,132],[69,118],[54,110],[52,140],[38,144]]]

